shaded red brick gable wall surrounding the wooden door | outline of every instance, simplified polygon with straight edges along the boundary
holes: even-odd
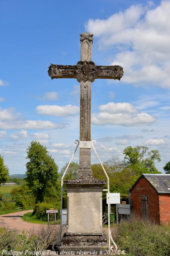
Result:
[[[150,183],[145,178],[141,178],[139,182],[137,182],[133,190],[131,190],[131,207],[132,210],[135,210],[135,212],[140,217],[142,216],[141,196],[149,196],[149,218],[154,219],[156,220],[156,222],[160,223],[159,197],[156,190],[150,185]]]

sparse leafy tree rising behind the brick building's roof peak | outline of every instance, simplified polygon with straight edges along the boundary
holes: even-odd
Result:
[[[137,146],[132,148],[128,146],[123,150],[124,160],[123,165],[131,168],[132,174],[142,173],[161,173],[155,167],[155,161],[161,161],[158,150],[149,150],[146,146]]]

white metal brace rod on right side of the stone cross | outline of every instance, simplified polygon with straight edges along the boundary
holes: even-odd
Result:
[[[107,189],[104,189],[104,191],[108,192],[108,236],[109,236],[109,249],[112,247],[112,246],[110,246],[110,240],[111,240],[113,242],[116,250],[117,250],[117,245],[115,244],[115,242],[114,242],[114,240],[113,240],[113,238],[111,236],[111,231],[110,231],[110,204],[109,204],[110,187],[109,187],[109,176],[107,175],[107,172],[106,172],[106,170],[105,170],[105,168],[104,168],[104,166],[103,166],[103,164],[102,164],[102,162],[100,160],[100,157],[98,156],[98,153],[96,152],[96,149],[94,147],[93,143],[96,143],[96,140],[92,140],[91,143],[92,143],[92,148],[94,149],[94,152],[96,153],[96,156],[97,156],[97,158],[98,158],[98,160],[99,160],[99,162],[100,162],[100,164],[102,166],[102,169],[104,170],[104,173],[105,173],[105,175],[107,177]]]

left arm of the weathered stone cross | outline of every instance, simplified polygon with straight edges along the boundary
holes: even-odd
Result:
[[[51,79],[54,78],[76,78],[76,65],[54,65],[51,64],[48,70]]]

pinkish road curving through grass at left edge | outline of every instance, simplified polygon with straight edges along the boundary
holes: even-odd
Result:
[[[29,231],[33,226],[39,226],[39,224],[29,223],[21,219],[21,217],[27,212],[33,212],[33,210],[12,212],[0,215],[0,227],[8,227],[10,229],[14,228],[20,231]]]

